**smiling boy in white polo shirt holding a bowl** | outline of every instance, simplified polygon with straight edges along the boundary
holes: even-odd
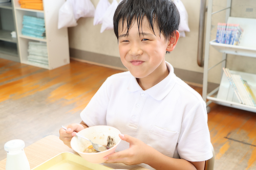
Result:
[[[96,125],[120,130],[121,143],[106,163],[150,169],[204,169],[212,157],[205,102],[174,74],[165,53],[179,39],[179,12],[170,0],[123,0],[114,15],[123,65],[88,106],[82,122],[60,129],[70,146],[73,131]]]

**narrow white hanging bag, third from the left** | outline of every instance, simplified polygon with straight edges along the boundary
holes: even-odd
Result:
[[[100,0],[94,14],[93,25],[96,26],[102,23],[102,17],[104,16],[106,10],[109,8],[109,0]]]

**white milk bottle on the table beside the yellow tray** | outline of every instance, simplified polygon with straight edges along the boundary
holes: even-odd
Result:
[[[30,170],[29,161],[24,152],[25,142],[20,139],[5,143],[7,151],[6,170]]]

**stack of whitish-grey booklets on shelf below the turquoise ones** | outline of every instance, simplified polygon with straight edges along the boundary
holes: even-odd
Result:
[[[28,54],[28,61],[30,63],[48,66],[46,42],[29,41]]]

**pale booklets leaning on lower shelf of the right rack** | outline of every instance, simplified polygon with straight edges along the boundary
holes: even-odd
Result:
[[[228,68],[223,68],[223,70],[239,102],[256,107],[256,98],[248,83],[240,75],[231,74]]]

